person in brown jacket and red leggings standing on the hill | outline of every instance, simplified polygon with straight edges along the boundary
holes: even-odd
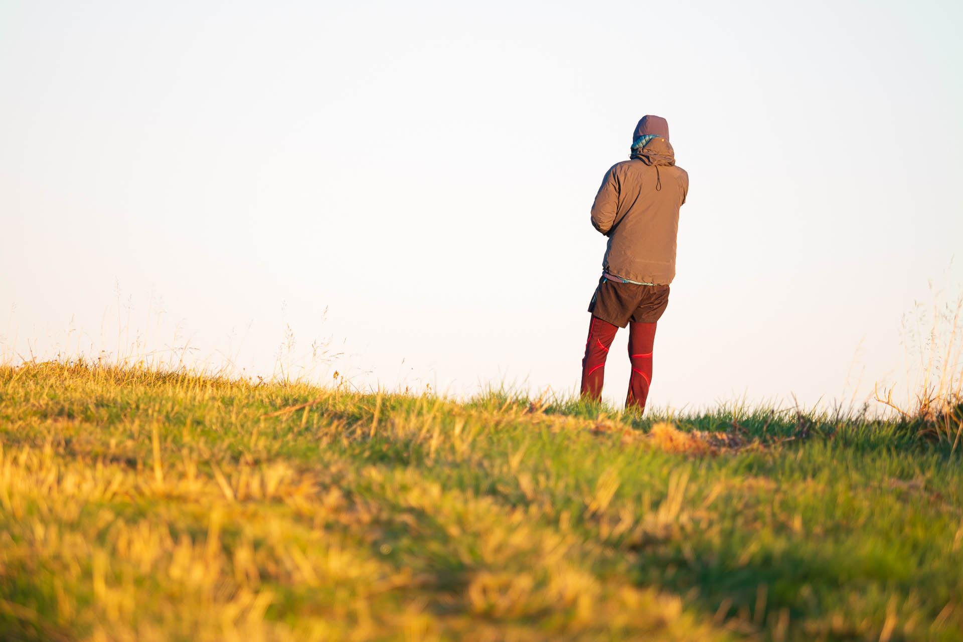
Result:
[[[628,161],[613,165],[595,194],[591,220],[609,237],[602,277],[588,303],[582,396],[602,398],[605,362],[620,327],[629,325],[632,374],[626,408],[639,412],[652,383],[656,323],[668,305],[675,276],[679,208],[689,192],[689,174],[675,165],[668,122],[643,116],[632,136]]]

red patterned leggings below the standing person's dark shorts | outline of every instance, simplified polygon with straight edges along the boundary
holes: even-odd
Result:
[[[602,398],[602,382],[605,379],[605,360],[615,338],[617,325],[592,317],[588,326],[586,356],[582,359],[582,396],[598,401]],[[629,377],[629,394],[625,406],[645,409],[652,383],[652,346],[656,339],[655,323],[629,323],[629,360],[632,375]]]

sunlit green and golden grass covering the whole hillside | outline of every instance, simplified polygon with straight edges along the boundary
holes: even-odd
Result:
[[[0,368],[0,638],[963,639],[912,418]]]

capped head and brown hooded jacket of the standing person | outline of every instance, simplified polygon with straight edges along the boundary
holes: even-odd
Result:
[[[664,118],[639,120],[633,143],[630,159],[606,172],[592,205],[592,225],[609,237],[602,267],[630,281],[667,285],[675,277],[689,174],[675,165]]]

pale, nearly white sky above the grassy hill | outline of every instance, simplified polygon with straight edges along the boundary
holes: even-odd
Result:
[[[655,114],[690,193],[649,404],[865,394],[905,378],[927,280],[963,284],[960,24],[950,0],[0,1],[0,355],[116,353],[119,324],[270,374],[290,325],[294,361],[330,337],[360,387],[574,392],[588,210]]]

